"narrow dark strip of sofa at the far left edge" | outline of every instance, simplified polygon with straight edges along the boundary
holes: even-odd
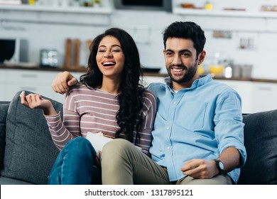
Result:
[[[9,102],[0,102],[0,168],[3,168],[5,139],[6,139],[6,115],[9,109]]]

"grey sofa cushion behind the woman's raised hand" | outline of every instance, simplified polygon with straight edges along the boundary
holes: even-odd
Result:
[[[4,169],[1,170],[1,176],[46,184],[59,151],[53,144],[43,111],[23,106],[20,93],[13,97],[8,110]],[[63,104],[51,101],[57,112],[61,112]]]

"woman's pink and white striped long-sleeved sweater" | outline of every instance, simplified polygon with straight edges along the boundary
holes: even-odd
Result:
[[[139,132],[139,139],[134,131],[134,144],[142,148],[143,153],[149,156],[153,122],[156,116],[156,97],[152,92],[143,92],[143,124]],[[62,150],[67,141],[77,136],[87,136],[87,132],[102,131],[105,136],[115,137],[119,130],[116,123],[116,113],[119,104],[116,95],[99,89],[89,90],[85,85],[72,87],[65,97],[63,104],[63,120],[60,113],[46,116],[50,134],[55,146]],[[121,138],[126,139],[124,134]]]

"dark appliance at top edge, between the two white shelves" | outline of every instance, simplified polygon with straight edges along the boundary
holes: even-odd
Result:
[[[156,10],[156,11],[171,11],[171,1],[168,0],[114,0],[116,9],[129,10]]]

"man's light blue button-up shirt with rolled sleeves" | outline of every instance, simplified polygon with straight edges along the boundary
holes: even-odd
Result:
[[[170,181],[184,177],[180,168],[192,158],[214,159],[229,146],[246,161],[241,98],[232,88],[201,77],[190,88],[175,93],[170,83],[151,83],[158,112],[152,131],[150,152],[153,161],[168,169]],[[228,175],[237,183],[240,169]]]

